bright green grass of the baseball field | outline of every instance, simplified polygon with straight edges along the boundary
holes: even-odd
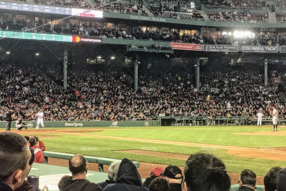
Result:
[[[117,128],[117,129],[116,129]],[[271,136],[271,127],[253,126],[216,126],[216,127],[116,127],[100,128],[100,132],[82,132],[87,135],[108,135],[129,138],[144,138],[166,141],[182,141],[204,144],[218,144],[241,147],[286,147],[285,136]],[[60,128],[47,128],[46,130],[60,130]],[[89,128],[71,128],[72,130],[89,130]],[[67,128],[64,128],[67,130]],[[235,135],[232,133],[269,131],[270,136],[265,135]],[[286,131],[286,128],[279,128]],[[66,131],[65,131],[66,132]],[[23,132],[24,133],[24,132]],[[30,135],[29,131],[25,134]],[[68,135],[63,133],[48,132],[44,135],[57,135],[56,137],[45,137],[39,135],[44,141],[48,151],[62,153],[81,153],[84,155],[100,156],[107,158],[129,158],[133,161],[142,161],[158,164],[174,164],[184,166],[185,161],[172,158],[155,157],[130,153],[120,153],[120,150],[142,150],[151,148],[156,152],[187,154],[195,152],[206,152],[221,158],[230,172],[240,173],[243,169],[253,170],[257,175],[265,173],[274,166],[286,167],[286,161],[257,159],[240,157],[226,153],[226,149],[202,151],[201,147],[149,143],[142,141],[118,140],[110,138],[99,138],[84,135]],[[243,151],[242,151],[243,152]],[[286,158],[286,152],[285,152]]]

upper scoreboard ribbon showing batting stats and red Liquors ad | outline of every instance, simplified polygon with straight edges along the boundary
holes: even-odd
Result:
[[[49,6],[49,5],[27,4],[27,3],[22,3],[22,2],[0,1],[0,9],[31,11],[31,12],[38,12],[38,13],[54,13],[54,14],[62,14],[62,15],[69,15],[69,16],[78,15],[78,16],[96,17],[96,18],[103,17],[103,12],[98,11],[98,10],[85,10],[85,9],[77,9],[77,8],[69,8],[69,7],[55,7],[55,6]]]

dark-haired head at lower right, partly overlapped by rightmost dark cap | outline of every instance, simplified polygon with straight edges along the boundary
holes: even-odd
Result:
[[[276,190],[276,178],[281,167],[272,167],[264,176],[263,184],[264,191],[275,191]]]

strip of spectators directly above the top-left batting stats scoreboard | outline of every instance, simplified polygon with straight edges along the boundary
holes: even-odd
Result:
[[[83,9],[90,9],[91,5],[84,0],[34,0],[35,3],[43,5],[55,5],[63,7],[79,7]]]

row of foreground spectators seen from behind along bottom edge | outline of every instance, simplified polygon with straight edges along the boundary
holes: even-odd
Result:
[[[38,148],[33,148],[35,138],[27,140],[16,133],[0,133],[0,190],[1,191],[35,191],[31,182],[25,181],[39,155]],[[23,149],[25,148],[25,149]],[[40,150],[41,151],[41,150]],[[22,160],[18,160],[21,158]],[[108,168],[108,179],[94,183],[86,179],[88,166],[86,158],[76,154],[69,159],[70,175],[64,175],[57,186],[60,191],[94,190],[94,191],[228,191],[231,178],[224,162],[214,155],[192,153],[186,160],[184,170],[175,165],[165,169],[155,167],[142,184],[142,178],[136,166],[128,158],[114,161]],[[263,179],[265,191],[284,191],[286,168],[272,167]],[[237,191],[255,191],[256,174],[249,169],[240,173]],[[41,181],[41,179],[40,179]],[[35,183],[34,183],[35,184]]]

